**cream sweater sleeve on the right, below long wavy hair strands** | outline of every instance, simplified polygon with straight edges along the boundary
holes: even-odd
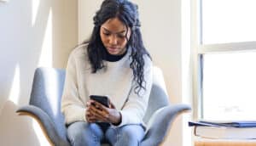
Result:
[[[145,59],[144,81],[146,81],[146,84],[144,84],[146,85],[146,90],[142,89],[139,93],[140,96],[134,92],[136,83],[133,83],[128,100],[125,103],[124,108],[120,110],[122,120],[119,126],[143,123],[143,116],[148,107],[148,98],[153,81],[153,67],[149,58]]]

